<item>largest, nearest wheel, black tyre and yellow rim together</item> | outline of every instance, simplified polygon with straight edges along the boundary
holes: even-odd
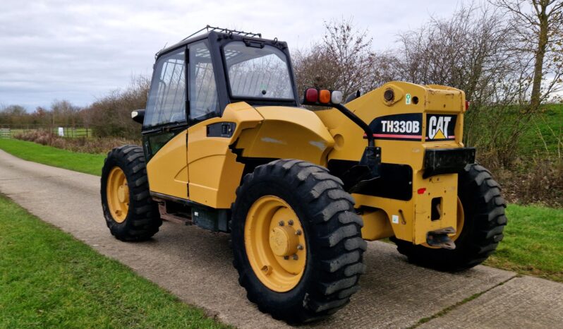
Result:
[[[348,304],[365,270],[361,217],[342,182],[301,160],[277,160],[244,178],[232,208],[234,265],[248,299],[301,323]]]

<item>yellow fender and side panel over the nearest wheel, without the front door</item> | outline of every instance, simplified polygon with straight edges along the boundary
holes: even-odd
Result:
[[[207,137],[207,125],[217,122],[236,124],[233,135]],[[229,104],[221,118],[188,128],[190,200],[213,208],[231,207],[244,169],[233,149],[241,150],[241,157],[325,163],[333,144],[322,121],[308,110]]]

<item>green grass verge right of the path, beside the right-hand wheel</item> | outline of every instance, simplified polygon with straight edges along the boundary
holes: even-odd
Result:
[[[504,240],[485,265],[563,282],[563,210],[509,205]]]

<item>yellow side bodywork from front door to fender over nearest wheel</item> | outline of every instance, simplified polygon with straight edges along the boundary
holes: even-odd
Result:
[[[231,137],[207,136],[207,126],[219,122],[236,124]],[[241,157],[296,158],[326,165],[333,145],[325,125],[307,109],[229,104],[222,117],[191,126],[152,157],[147,164],[150,191],[230,208],[244,169],[233,148],[241,150]]]

